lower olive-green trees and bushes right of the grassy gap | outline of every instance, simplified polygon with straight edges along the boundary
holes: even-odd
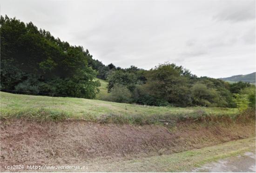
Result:
[[[108,75],[110,94],[103,100],[150,106],[255,106],[255,86],[209,77],[197,77],[175,64],[164,63],[148,71],[131,66]],[[243,98],[243,99],[241,99]]]

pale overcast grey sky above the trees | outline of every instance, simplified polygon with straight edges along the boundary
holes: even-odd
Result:
[[[83,46],[105,65],[168,61],[213,78],[256,71],[255,0],[0,0],[0,13]]]

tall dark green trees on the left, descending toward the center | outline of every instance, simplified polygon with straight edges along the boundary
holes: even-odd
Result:
[[[108,67],[87,49],[55,39],[32,22],[1,16],[0,25],[2,90],[89,99],[99,93],[100,82],[94,79],[105,79]]]

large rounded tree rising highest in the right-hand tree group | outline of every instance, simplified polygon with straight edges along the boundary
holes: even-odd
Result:
[[[189,77],[187,70],[182,66],[164,63],[146,73],[147,92],[175,106],[188,106],[191,104],[189,91]]]

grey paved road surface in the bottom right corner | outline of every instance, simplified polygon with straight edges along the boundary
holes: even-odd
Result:
[[[247,152],[243,155],[209,163],[192,172],[256,172],[255,153]]]

